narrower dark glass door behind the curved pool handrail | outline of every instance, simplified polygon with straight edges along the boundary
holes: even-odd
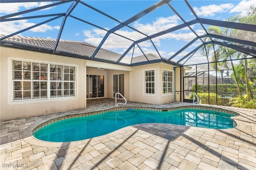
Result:
[[[113,75],[113,98],[116,97],[116,93],[124,96],[124,74]],[[117,94],[117,97],[122,98],[119,94]]]

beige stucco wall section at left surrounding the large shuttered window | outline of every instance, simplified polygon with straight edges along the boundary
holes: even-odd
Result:
[[[46,113],[54,113],[59,111],[67,111],[72,109],[79,109],[86,107],[85,96],[85,77],[86,77],[86,61],[80,59],[73,59],[68,57],[59,57],[56,55],[42,54],[31,51],[22,51],[18,49],[10,49],[0,47],[0,113],[1,120],[12,119],[15,117],[28,117],[32,115],[42,115]],[[10,80],[11,68],[8,68],[8,61],[10,57],[17,57],[18,59],[28,59],[35,61],[49,61],[60,64],[74,64],[77,66],[76,80],[76,98],[52,99],[44,100],[44,102],[36,101],[30,104],[18,104],[17,102],[10,102],[12,91],[12,80]],[[31,101],[30,101],[31,102]]]

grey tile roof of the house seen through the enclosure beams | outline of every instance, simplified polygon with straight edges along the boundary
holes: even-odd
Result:
[[[4,36],[5,35],[0,35],[1,38]],[[1,45],[31,49],[36,51],[48,51],[52,53],[55,42],[56,42],[56,39],[52,39],[52,38],[24,37],[24,36],[15,35],[2,40]],[[29,47],[37,47],[37,48],[29,48]],[[95,49],[96,49],[96,46],[90,45],[82,41],[70,41],[70,40],[60,39],[58,46],[56,48],[56,54],[89,59],[94,53]],[[118,53],[114,53],[106,49],[100,49],[98,53],[95,55],[94,59],[115,63],[120,57],[121,55]],[[120,61],[120,63],[130,65],[135,63],[156,61],[161,59],[159,56],[151,53],[146,54],[146,57],[144,55],[141,55],[137,57],[132,57],[131,59],[130,57],[125,56]]]

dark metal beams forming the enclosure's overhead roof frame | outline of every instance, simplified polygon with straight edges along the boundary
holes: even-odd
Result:
[[[206,44],[217,44],[217,45],[225,46],[225,47],[234,49],[236,51],[240,51],[242,53],[245,53],[247,55],[250,55],[253,58],[256,58],[256,42],[255,41],[253,42],[253,41],[248,41],[248,40],[243,40],[243,39],[238,39],[238,38],[225,37],[225,36],[222,36],[222,35],[213,35],[211,33],[208,33],[208,31],[204,27],[204,25],[214,25],[214,26],[218,26],[218,27],[226,27],[226,28],[230,28],[230,29],[239,29],[239,30],[242,30],[242,31],[256,32],[256,26],[255,25],[247,24],[247,23],[236,23],[236,22],[228,22],[228,21],[220,21],[220,20],[211,20],[211,19],[206,19],[206,18],[198,18],[196,12],[190,6],[188,0],[184,0],[184,1],[185,1],[186,5],[188,6],[188,8],[191,10],[192,14],[195,16],[196,19],[190,20],[190,21],[185,21],[184,18],[182,18],[182,16],[175,10],[175,8],[173,8],[171,6],[171,4],[170,4],[171,1],[172,0],[160,0],[156,4],[153,4],[152,6],[146,8],[145,10],[142,10],[138,14],[132,16],[131,18],[128,18],[127,20],[121,22],[120,20],[118,20],[118,19],[116,19],[116,18],[114,18],[114,17],[112,17],[112,16],[102,12],[101,10],[98,10],[98,9],[94,8],[93,6],[90,6],[90,5],[86,4],[85,2],[83,2],[81,0],[61,0],[61,1],[60,0],[1,0],[0,3],[16,3],[16,2],[19,2],[19,3],[20,2],[24,2],[24,3],[26,3],[26,2],[54,2],[54,3],[48,4],[48,5],[44,5],[44,6],[40,6],[40,7],[37,7],[37,8],[32,8],[32,9],[29,9],[29,10],[24,10],[24,11],[21,11],[21,12],[16,12],[16,13],[13,13],[13,14],[8,14],[8,15],[5,15],[5,16],[1,16],[0,17],[0,22],[17,21],[17,20],[34,19],[34,18],[45,18],[45,17],[53,17],[53,18],[50,18],[50,19],[42,21],[42,22],[40,22],[38,24],[32,25],[32,26],[27,27],[25,29],[22,29],[22,30],[16,31],[14,33],[11,33],[9,35],[5,35],[4,37],[1,37],[0,38],[0,41],[1,41],[0,45],[1,46],[8,46],[8,43],[4,43],[4,41],[3,41],[4,39],[7,39],[8,37],[11,37],[13,35],[17,35],[19,33],[27,31],[29,29],[35,28],[37,26],[40,26],[40,25],[42,25],[44,23],[48,23],[50,21],[53,21],[53,20],[56,20],[58,18],[62,18],[63,17],[62,25],[60,26],[59,33],[58,33],[58,36],[57,36],[57,39],[56,39],[56,42],[55,42],[55,45],[54,45],[53,49],[52,50],[50,50],[50,49],[46,50],[47,52],[51,51],[51,53],[53,53],[53,54],[58,54],[58,52],[56,52],[56,49],[58,47],[58,43],[60,41],[60,38],[61,38],[61,35],[62,35],[62,31],[63,31],[63,29],[65,27],[66,19],[68,17],[70,17],[70,18],[74,18],[74,19],[76,19],[78,21],[84,22],[86,24],[90,24],[92,26],[98,27],[99,29],[102,29],[104,31],[107,31],[106,35],[103,37],[103,39],[100,42],[100,44],[96,47],[96,50],[94,51],[94,53],[89,57],[90,60],[97,60],[97,61],[98,60],[102,60],[103,62],[106,62],[106,63],[115,63],[115,64],[128,65],[128,66],[136,66],[136,65],[145,64],[145,63],[150,64],[150,63],[152,63],[152,61],[150,61],[146,57],[146,54],[144,53],[143,49],[140,48],[140,46],[138,45],[139,43],[142,43],[144,41],[150,41],[152,43],[154,49],[156,50],[156,52],[158,53],[158,55],[160,57],[160,60],[157,60],[157,62],[169,63],[169,64],[173,64],[175,66],[182,66],[184,63],[180,64],[181,61],[183,61],[185,59],[189,60],[194,55],[194,53],[196,51],[198,51],[201,47],[203,47]],[[53,6],[58,6],[58,5],[65,4],[65,3],[68,3],[68,2],[70,2],[71,5],[69,6],[69,8],[64,13],[38,15],[38,16],[27,16],[27,17],[20,17],[20,18],[16,17],[15,18],[15,16],[19,16],[21,14],[27,14],[27,13],[30,13],[30,12],[42,10],[42,9],[45,9],[45,8],[50,8],[50,7],[53,7]],[[83,6],[86,6],[86,7],[90,8],[90,9],[94,10],[95,12],[98,12],[98,13],[102,14],[103,16],[106,16],[106,17],[110,18],[111,20],[118,22],[119,24],[116,25],[113,28],[110,28],[108,30],[108,29],[100,27],[99,25],[95,25],[95,24],[90,23],[90,22],[88,22],[86,20],[82,20],[79,17],[73,16],[72,15],[72,11],[76,8],[76,6],[78,4],[82,4]],[[176,25],[174,27],[170,27],[169,29],[166,29],[164,31],[160,31],[158,33],[154,33],[152,35],[146,35],[145,33],[141,32],[141,31],[138,31],[136,28],[128,25],[129,23],[132,23],[132,22],[142,18],[143,16],[149,14],[150,12],[156,10],[157,8],[160,8],[160,7],[165,6],[165,5],[168,6],[170,8],[170,10],[172,10],[180,18],[180,20],[182,20],[184,23],[182,23],[180,25]],[[197,23],[199,23],[202,26],[202,28],[204,29],[205,35],[199,36],[196,33],[196,31],[194,31],[194,29],[191,27],[191,25],[194,25],[194,24],[197,24]],[[120,30],[122,27],[128,27],[128,28],[136,31],[139,34],[144,35],[145,37],[135,41],[135,40],[133,40],[133,39],[131,39],[129,37],[125,37],[125,36],[120,35],[120,34],[115,32],[117,30]],[[156,37],[159,37],[161,35],[165,35],[167,33],[171,33],[173,31],[177,31],[177,30],[185,28],[185,27],[188,27],[192,31],[192,33],[194,33],[196,38],[194,38],[192,41],[190,41],[188,44],[186,44],[184,47],[182,47],[180,50],[178,50],[174,55],[172,55],[168,59],[163,59],[163,57],[159,53],[158,48],[154,45],[152,39],[154,39]],[[120,56],[120,58],[116,62],[108,61],[108,60],[103,60],[103,59],[96,59],[95,58],[96,54],[98,53],[99,49],[105,43],[106,39],[108,38],[108,36],[110,34],[115,34],[115,35],[120,36],[120,37],[122,37],[124,39],[128,39],[129,41],[132,42],[132,44],[130,45],[130,47],[128,47],[128,49],[126,49],[126,51],[124,51],[124,53]],[[204,38],[209,38],[210,41],[204,42]],[[222,42],[216,41],[214,39],[221,40]],[[197,40],[202,41],[202,44],[198,45],[198,47],[196,47],[194,50],[190,51],[187,55],[184,55],[184,57],[179,59],[177,62],[172,61],[173,59],[175,59],[175,57],[177,57],[177,55],[182,53],[185,49],[187,49],[190,45],[192,45]],[[237,45],[237,44],[239,44],[239,45]],[[142,52],[144,57],[146,58],[147,62],[142,62],[142,63],[132,63],[131,62],[130,64],[121,63],[120,61],[136,45],[140,49],[140,51]],[[10,47],[24,48],[24,45],[20,45],[19,46],[18,44],[15,44],[13,46],[10,45]],[[34,48],[34,50],[36,51],[37,48]],[[66,54],[68,56],[68,53],[63,53],[63,54]],[[77,56],[79,56],[79,55],[77,55]],[[70,56],[70,57],[72,57],[72,56]],[[79,58],[83,58],[83,57],[81,56]],[[208,57],[207,57],[207,60],[208,60]],[[156,62],[156,61],[154,61],[154,62]]]

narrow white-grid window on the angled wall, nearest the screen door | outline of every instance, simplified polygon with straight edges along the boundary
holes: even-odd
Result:
[[[162,70],[163,76],[163,94],[172,94],[173,93],[173,83],[172,83],[172,71]]]

